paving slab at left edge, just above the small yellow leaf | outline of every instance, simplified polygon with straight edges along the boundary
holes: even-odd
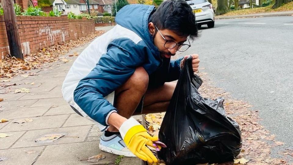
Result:
[[[19,108],[15,110],[7,110],[0,112],[0,118],[17,119],[26,117],[42,116],[49,110],[50,106],[34,107],[34,108]]]

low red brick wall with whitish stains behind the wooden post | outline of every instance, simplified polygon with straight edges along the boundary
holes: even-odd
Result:
[[[93,20],[68,20],[67,16],[17,16],[20,44],[24,55],[46,46],[77,39],[95,31]],[[0,58],[9,54],[4,17],[0,17]]]

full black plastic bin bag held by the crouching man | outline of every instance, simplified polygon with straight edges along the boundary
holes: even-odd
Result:
[[[242,146],[239,125],[225,116],[223,98],[198,93],[202,80],[194,75],[191,61],[186,60],[160,128],[159,139],[167,148],[159,158],[168,165],[233,161]]]

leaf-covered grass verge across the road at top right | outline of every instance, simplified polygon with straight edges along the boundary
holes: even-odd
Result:
[[[277,9],[272,9],[273,5],[269,5],[266,7],[258,7],[253,9],[241,9],[241,10],[233,10],[228,13],[223,14],[222,16],[236,16],[236,15],[244,15],[244,14],[255,14],[255,13],[269,13],[269,12],[280,12],[280,11],[292,11],[293,10],[293,2],[289,2],[280,6]]]

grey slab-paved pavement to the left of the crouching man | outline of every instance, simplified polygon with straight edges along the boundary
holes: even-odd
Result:
[[[89,43],[88,43],[89,44]],[[69,62],[58,61],[44,65],[44,69],[29,72],[38,75],[17,76],[11,82],[20,85],[1,88],[1,91],[14,91],[27,88],[30,93],[0,94],[5,100],[0,102],[0,119],[9,122],[0,123],[0,133],[11,136],[0,138],[0,164],[2,165],[68,165],[68,164],[108,164],[114,165],[117,155],[99,150],[101,132],[89,120],[78,116],[61,94],[62,82],[78,54],[88,45],[72,49],[60,58],[66,57]],[[32,122],[14,123],[20,119],[32,119]],[[142,116],[136,116],[143,121]],[[37,141],[49,134],[63,134],[56,141]],[[88,162],[90,156],[102,153],[105,159],[99,162]],[[123,158],[120,165],[143,164],[138,158]]]

